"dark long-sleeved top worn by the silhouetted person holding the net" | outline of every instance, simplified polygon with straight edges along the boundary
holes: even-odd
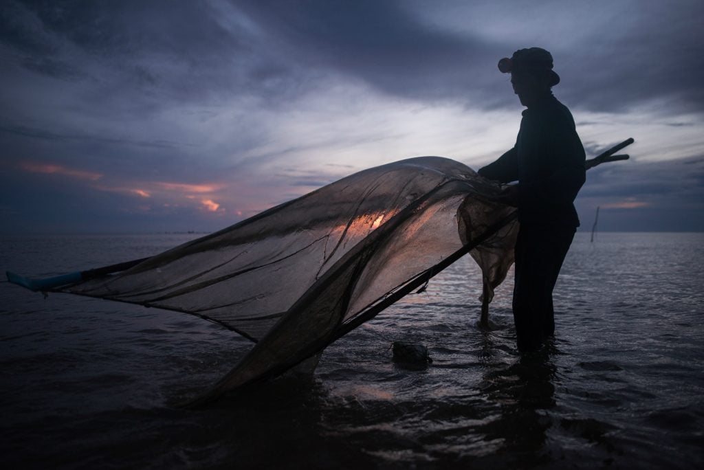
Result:
[[[584,158],[572,113],[550,95],[523,111],[515,146],[479,174],[518,181],[522,224],[579,227],[574,198],[584,184]]]

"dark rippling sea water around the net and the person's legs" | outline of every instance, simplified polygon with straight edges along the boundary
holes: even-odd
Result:
[[[4,237],[37,277],[193,235]],[[183,410],[250,344],[189,315],[0,284],[3,468],[704,468],[704,234],[577,234],[554,343],[520,358],[511,282],[476,326],[461,260],[284,377]],[[433,362],[391,361],[394,340]]]

